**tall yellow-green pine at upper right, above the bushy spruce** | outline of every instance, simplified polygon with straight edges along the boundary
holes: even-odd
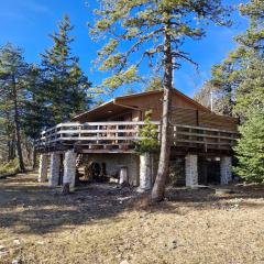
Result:
[[[217,111],[246,120],[248,112],[251,112],[248,110],[260,103],[263,97],[264,3],[251,0],[240,6],[240,12],[249,18],[250,26],[234,37],[238,47],[221,64],[212,67],[212,78],[207,84],[216,94]],[[202,87],[196,97],[201,99],[200,95],[206,91],[208,86]]]

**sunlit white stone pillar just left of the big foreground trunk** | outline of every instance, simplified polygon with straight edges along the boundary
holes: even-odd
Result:
[[[152,154],[144,153],[140,155],[140,191],[152,188]]]

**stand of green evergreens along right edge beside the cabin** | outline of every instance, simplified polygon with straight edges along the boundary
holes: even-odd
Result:
[[[238,114],[242,121],[235,172],[248,180],[263,182],[264,2],[250,0],[240,11],[249,18],[250,26],[235,37],[237,50],[213,67],[210,82],[227,99],[223,113]]]

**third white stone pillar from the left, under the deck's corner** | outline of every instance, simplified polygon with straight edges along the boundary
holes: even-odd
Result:
[[[69,184],[70,190],[75,187],[75,175],[76,175],[76,153],[70,150],[65,153],[64,157],[64,177],[63,184]]]

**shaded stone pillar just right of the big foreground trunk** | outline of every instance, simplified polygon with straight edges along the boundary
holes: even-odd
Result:
[[[185,157],[186,186],[198,185],[198,156],[188,154]]]

